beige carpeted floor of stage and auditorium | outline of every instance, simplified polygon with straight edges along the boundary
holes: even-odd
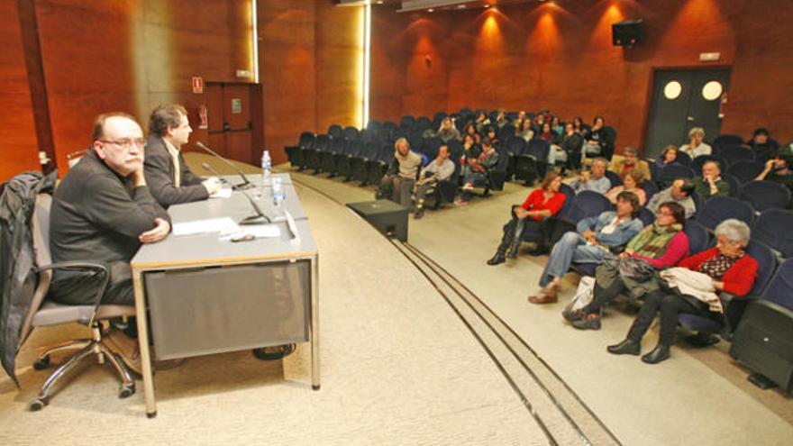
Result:
[[[198,174],[202,161],[213,160],[187,154]],[[311,390],[305,345],[283,361],[262,362],[242,351],[160,371],[159,414],[151,420],[143,414],[140,382],[137,394],[117,399],[115,378],[96,366],[40,413],[29,413],[27,403],[46,378],[30,367],[36,348],[83,330],[51,328],[35,332],[20,353],[21,389],[0,379],[0,443],[586,444],[570,433],[555,437],[561,431],[553,425],[545,430],[542,420],[552,424],[556,418],[547,412],[555,409],[542,404],[546,396],[522,392],[520,379],[512,379],[517,372],[497,360],[499,350],[513,347],[472,335],[478,328],[442,297],[448,289],[340,205],[369,200],[373,189],[296,172],[293,180],[321,252],[321,391]],[[411,219],[409,243],[514,332],[504,345],[524,342],[533,351],[540,362],[524,364],[538,369],[538,379],[544,379],[541,362],[547,364],[564,385],[547,387],[551,394],[580,398],[623,444],[788,444],[793,402],[746,383],[747,371],[724,346],[678,344],[672,360],[654,367],[612,357],[605,346],[622,339],[630,311],[612,309],[600,332],[577,332],[562,322],[562,303],[525,301],[543,258],[485,266],[508,204],[527,192],[508,185],[464,208]],[[568,276],[562,302],[576,281]],[[656,335],[652,330],[645,338],[645,350]]]

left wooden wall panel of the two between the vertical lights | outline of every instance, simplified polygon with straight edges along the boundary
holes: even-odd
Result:
[[[274,163],[300,132],[316,132],[315,3],[260,0],[264,144]]]

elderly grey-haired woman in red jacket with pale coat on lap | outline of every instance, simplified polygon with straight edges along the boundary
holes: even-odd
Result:
[[[706,275],[710,280],[710,284],[706,285],[712,287],[713,291],[723,291],[736,297],[746,296],[752,290],[758,267],[757,260],[752,259],[743,250],[749,243],[749,236],[749,226],[746,223],[734,218],[725,220],[716,226],[718,240],[716,247],[680,260],[678,267]],[[680,272],[686,275],[686,270]],[[661,273],[661,278],[676,277],[674,273],[673,270],[670,270],[666,276]],[[688,283],[695,282],[696,280],[691,280]],[[610,353],[617,355],[641,353],[642,337],[650,328],[656,313],[661,313],[661,337],[655,350],[642,357],[642,360],[648,364],[657,364],[670,357],[670,346],[674,341],[679,313],[702,315],[723,323],[724,307],[718,296],[702,292],[701,288],[697,287],[685,288],[682,285],[682,278],[678,287],[669,287],[670,285],[668,280],[666,287],[662,286],[661,289],[646,295],[644,305],[633,320],[628,336],[624,341],[608,346],[607,350]],[[684,289],[691,291],[684,293]],[[710,300],[707,296],[715,297]]]

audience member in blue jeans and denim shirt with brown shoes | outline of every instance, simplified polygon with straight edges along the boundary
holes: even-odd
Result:
[[[636,218],[640,209],[639,200],[631,192],[620,192],[616,198],[616,212],[606,211],[595,217],[581,220],[577,232],[565,233],[553,245],[551,256],[545,263],[540,277],[542,290],[530,296],[532,304],[556,302],[561,289],[561,278],[570,269],[570,263],[594,263],[599,265],[607,252],[621,248],[642,231],[642,222]]]

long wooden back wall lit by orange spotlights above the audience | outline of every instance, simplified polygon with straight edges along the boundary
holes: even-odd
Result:
[[[706,68],[712,65],[699,62],[699,53],[718,51],[713,65],[733,73],[722,131],[747,135],[767,126],[777,139],[793,139],[785,101],[793,90],[793,41],[772,24],[793,19],[786,0],[761,8],[750,0],[556,0],[490,11],[374,11],[382,26],[373,51],[375,119],[461,106],[548,107],[587,121],[604,114],[618,145],[641,147],[653,70]],[[639,17],[646,41],[612,46],[611,23]],[[420,63],[423,54],[431,67]]]

